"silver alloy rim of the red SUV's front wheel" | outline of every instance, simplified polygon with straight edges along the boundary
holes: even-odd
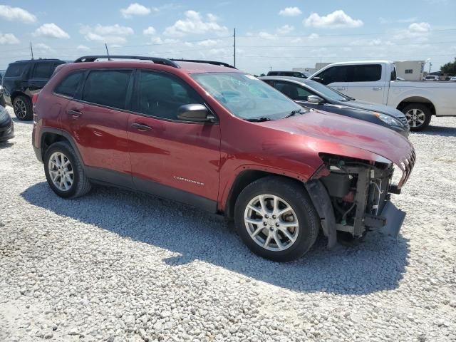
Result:
[[[256,244],[273,252],[289,249],[299,234],[296,212],[276,195],[252,198],[244,211],[244,224]]]

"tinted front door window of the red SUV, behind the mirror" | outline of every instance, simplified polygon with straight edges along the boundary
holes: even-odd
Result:
[[[203,103],[202,98],[174,76],[165,73],[141,71],[138,81],[138,112],[178,120],[177,109],[181,105]]]

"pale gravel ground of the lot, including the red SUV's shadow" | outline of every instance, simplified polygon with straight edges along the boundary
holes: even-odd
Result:
[[[0,341],[456,341],[456,118],[410,137],[397,240],[318,239],[289,264],[180,204],[58,198],[31,128],[0,145]]]

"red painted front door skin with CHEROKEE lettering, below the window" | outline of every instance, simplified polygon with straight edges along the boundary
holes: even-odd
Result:
[[[152,129],[143,132],[133,128],[133,123]],[[131,114],[128,139],[133,176],[217,201],[219,125],[177,123]]]

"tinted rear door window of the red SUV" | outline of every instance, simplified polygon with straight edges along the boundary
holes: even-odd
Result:
[[[130,70],[90,71],[84,84],[82,100],[125,109],[130,76]]]

